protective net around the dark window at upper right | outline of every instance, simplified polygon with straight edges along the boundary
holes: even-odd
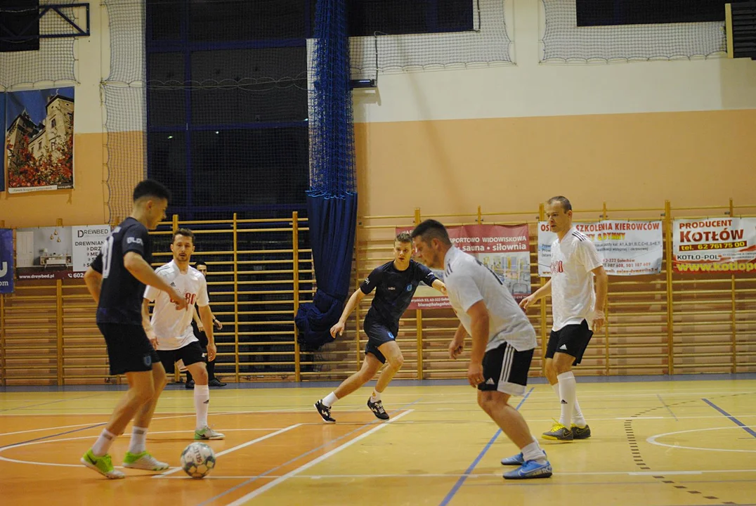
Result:
[[[658,9],[656,2],[645,3]],[[541,61],[549,63],[671,60],[721,55],[727,49],[721,21],[578,26],[575,0],[543,0],[542,5]]]

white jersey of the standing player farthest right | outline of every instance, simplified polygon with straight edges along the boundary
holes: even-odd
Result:
[[[552,330],[590,320],[596,306],[593,269],[603,265],[596,246],[573,227],[551,244]]]

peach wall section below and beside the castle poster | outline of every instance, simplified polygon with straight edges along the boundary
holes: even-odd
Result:
[[[107,187],[103,184],[103,135],[73,136],[73,186],[71,190],[29,194],[0,193],[0,220],[6,227],[97,225],[107,223]]]

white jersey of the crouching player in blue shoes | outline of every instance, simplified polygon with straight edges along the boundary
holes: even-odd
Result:
[[[536,345],[535,330],[525,312],[491,269],[457,247],[451,247],[444,258],[444,283],[449,301],[472,335],[472,318],[467,314],[482,300],[488,309],[488,345],[485,351],[498,348],[505,341],[519,352]]]

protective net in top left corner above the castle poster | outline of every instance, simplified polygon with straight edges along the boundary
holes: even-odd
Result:
[[[74,2],[75,0],[40,0],[39,6],[43,8],[45,5],[67,5]],[[37,11],[37,8],[33,11]],[[11,2],[0,2],[0,17],[12,16],[18,12],[18,8],[11,7]],[[64,6],[60,8],[60,12],[77,24],[83,20],[82,8]],[[39,20],[39,33],[73,34],[76,29],[63,17],[48,12]],[[76,82],[76,56],[73,50],[75,40],[73,37],[39,39],[37,51],[0,52],[0,89],[30,86],[42,81],[52,82],[53,85],[72,85]],[[14,42],[5,44],[12,46]]]

